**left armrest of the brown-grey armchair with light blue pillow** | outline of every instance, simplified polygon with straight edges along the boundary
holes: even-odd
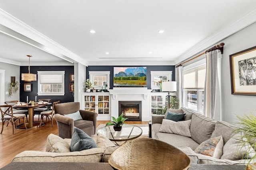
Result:
[[[59,137],[61,138],[72,138],[73,131],[74,131],[74,119],[55,114],[54,118],[58,125]]]

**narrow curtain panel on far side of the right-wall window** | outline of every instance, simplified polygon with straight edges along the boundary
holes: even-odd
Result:
[[[177,98],[179,100],[179,108],[183,106],[183,93],[182,93],[182,66],[176,68],[175,77],[177,82]]]

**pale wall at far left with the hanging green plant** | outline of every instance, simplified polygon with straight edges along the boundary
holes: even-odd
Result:
[[[20,66],[0,62],[0,69],[5,70],[4,94],[1,94],[4,95],[4,101],[20,100],[20,89],[11,97],[9,97],[8,94],[5,94],[5,92],[8,92],[9,90],[11,76],[15,76],[15,81],[20,82]]]

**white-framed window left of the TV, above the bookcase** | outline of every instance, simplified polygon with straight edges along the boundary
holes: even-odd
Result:
[[[92,87],[95,89],[109,89],[110,71],[89,71]]]

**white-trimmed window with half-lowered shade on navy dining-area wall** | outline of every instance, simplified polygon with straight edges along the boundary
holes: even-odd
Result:
[[[65,71],[38,71],[38,96],[64,96]]]

